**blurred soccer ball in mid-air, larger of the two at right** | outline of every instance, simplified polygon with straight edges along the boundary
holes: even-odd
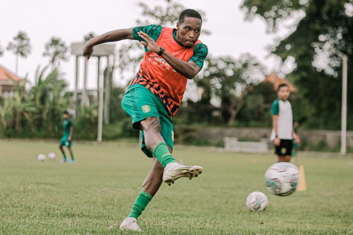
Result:
[[[289,162],[278,162],[265,173],[266,187],[274,195],[288,196],[297,189],[300,180],[298,167]]]

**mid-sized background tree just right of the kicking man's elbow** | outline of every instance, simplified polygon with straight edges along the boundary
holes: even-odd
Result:
[[[241,55],[238,60],[230,56],[209,56],[203,73],[195,78],[195,82],[203,91],[202,106],[207,107],[212,99],[216,100],[223,121],[232,126],[244,105],[249,86],[263,76],[263,65],[249,54]]]

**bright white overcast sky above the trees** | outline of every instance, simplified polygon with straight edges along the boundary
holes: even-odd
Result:
[[[49,58],[42,56],[44,44],[51,36],[62,38],[67,45],[71,42],[83,40],[88,32],[102,34],[106,31],[136,26],[135,21],[141,14],[138,0],[2,0],[0,14],[0,45],[6,49],[9,41],[19,30],[27,32],[32,44],[32,53],[26,59],[19,60],[19,75],[24,77],[28,73],[30,81],[34,81],[35,70],[38,65],[48,64]],[[144,0],[146,4],[161,3],[163,1]],[[231,55],[239,58],[242,53],[250,53],[267,66],[268,72],[276,71],[278,59],[268,57],[266,45],[272,44],[274,38],[286,35],[284,25],[276,35],[266,34],[265,23],[261,19],[252,22],[245,21],[244,13],[240,10],[241,0],[181,0],[186,8],[200,9],[206,13],[203,28],[212,32],[202,35],[199,39],[207,44],[209,53],[213,56]],[[93,4],[96,3],[96,4]],[[117,43],[119,45],[119,43]],[[83,67],[83,59],[81,62]],[[89,62],[88,88],[96,87],[96,60]],[[15,56],[5,51],[0,57],[0,64],[15,71]],[[62,62],[62,71],[69,82],[69,88],[74,87],[75,57]],[[80,73],[80,76],[83,74]],[[114,74],[115,83],[119,83],[119,74]],[[79,87],[82,87],[80,78]]]

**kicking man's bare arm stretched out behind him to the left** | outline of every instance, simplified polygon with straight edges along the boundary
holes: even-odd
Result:
[[[134,39],[132,30],[133,28],[117,29],[89,39],[83,48],[83,56],[86,57],[86,60],[88,61],[93,53],[93,46],[95,45],[111,41]]]

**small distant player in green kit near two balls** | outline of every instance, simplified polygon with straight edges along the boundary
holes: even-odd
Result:
[[[74,152],[72,151],[72,133],[74,131],[74,128],[72,127],[72,122],[69,119],[69,112],[64,111],[63,113],[63,127],[64,127],[64,135],[62,139],[60,140],[60,150],[63,153],[63,161],[62,162],[67,162],[66,154],[64,151],[64,146],[68,147],[70,154],[71,154],[71,161],[69,163],[75,163],[75,158],[74,158]]]

